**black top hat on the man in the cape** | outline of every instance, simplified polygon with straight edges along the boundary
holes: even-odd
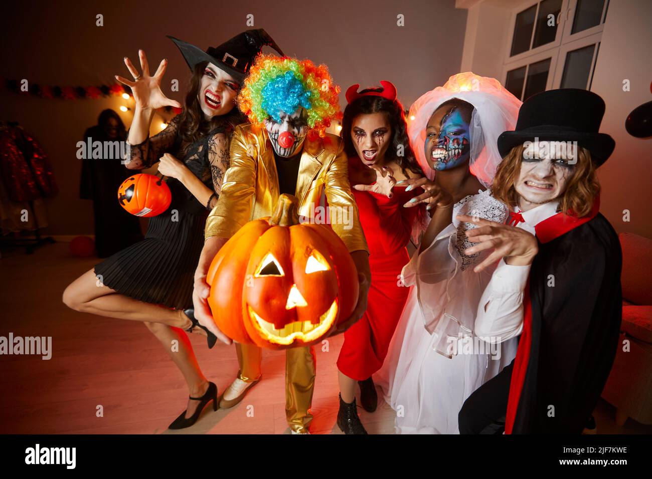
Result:
[[[599,133],[604,101],[599,95],[580,89],[549,90],[533,94],[521,105],[516,130],[498,137],[498,151],[505,157],[525,141],[577,141],[591,152],[596,166],[606,162],[615,147],[608,134]]]

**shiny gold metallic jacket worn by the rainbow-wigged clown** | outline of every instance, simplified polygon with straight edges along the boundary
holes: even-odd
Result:
[[[248,123],[237,126],[230,153],[230,167],[224,175],[220,198],[206,220],[206,238],[230,238],[250,220],[271,216],[280,195],[274,150],[267,130]],[[306,136],[295,195],[299,198],[299,214],[313,218],[323,191],[330,209],[337,207],[353,213],[350,227],[341,221],[332,222],[333,231],[349,252],[368,252],[358,207],[351,194],[342,139],[327,134],[311,141]]]

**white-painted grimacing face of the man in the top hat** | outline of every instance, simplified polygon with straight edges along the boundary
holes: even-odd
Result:
[[[569,160],[556,156],[542,158],[533,145],[527,147],[514,184],[520,195],[520,208],[526,211],[562,196],[574,171],[575,165],[569,164]]]

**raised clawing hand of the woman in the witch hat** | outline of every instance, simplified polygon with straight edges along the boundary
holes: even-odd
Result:
[[[161,80],[165,74],[166,68],[168,67],[168,60],[163,59],[160,65],[158,65],[158,69],[154,76],[150,76],[149,64],[147,63],[145,51],[138,50],[138,57],[140,58],[140,67],[143,70],[142,76],[140,76],[138,70],[136,70],[136,67],[131,63],[131,60],[128,59],[128,57],[125,57],[125,65],[130,74],[134,77],[134,80],[127,80],[119,75],[115,76],[117,81],[130,87],[134,94],[136,108],[156,109],[164,106],[181,108],[181,103],[175,100],[170,100],[170,98],[163,94],[160,88]],[[138,78],[138,80],[136,80],[136,78]]]

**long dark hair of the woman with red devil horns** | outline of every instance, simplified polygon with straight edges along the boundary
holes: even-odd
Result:
[[[368,88],[360,93],[368,91],[381,92],[381,88]],[[403,106],[398,100],[388,100],[378,95],[361,96],[357,100],[349,103],[344,109],[344,118],[342,119],[342,132],[340,135],[344,140],[344,151],[348,156],[357,156],[358,153],[353,146],[351,139],[351,124],[353,119],[358,115],[369,115],[382,111],[387,115],[387,120],[392,128],[392,144],[387,148],[385,157],[394,160],[406,175],[406,169],[417,175],[423,175],[421,167],[417,163],[417,158],[409,145],[408,125],[406,124],[406,115],[403,112]],[[403,147],[403,156],[398,156],[399,145]],[[407,175],[406,175],[407,176]]]

